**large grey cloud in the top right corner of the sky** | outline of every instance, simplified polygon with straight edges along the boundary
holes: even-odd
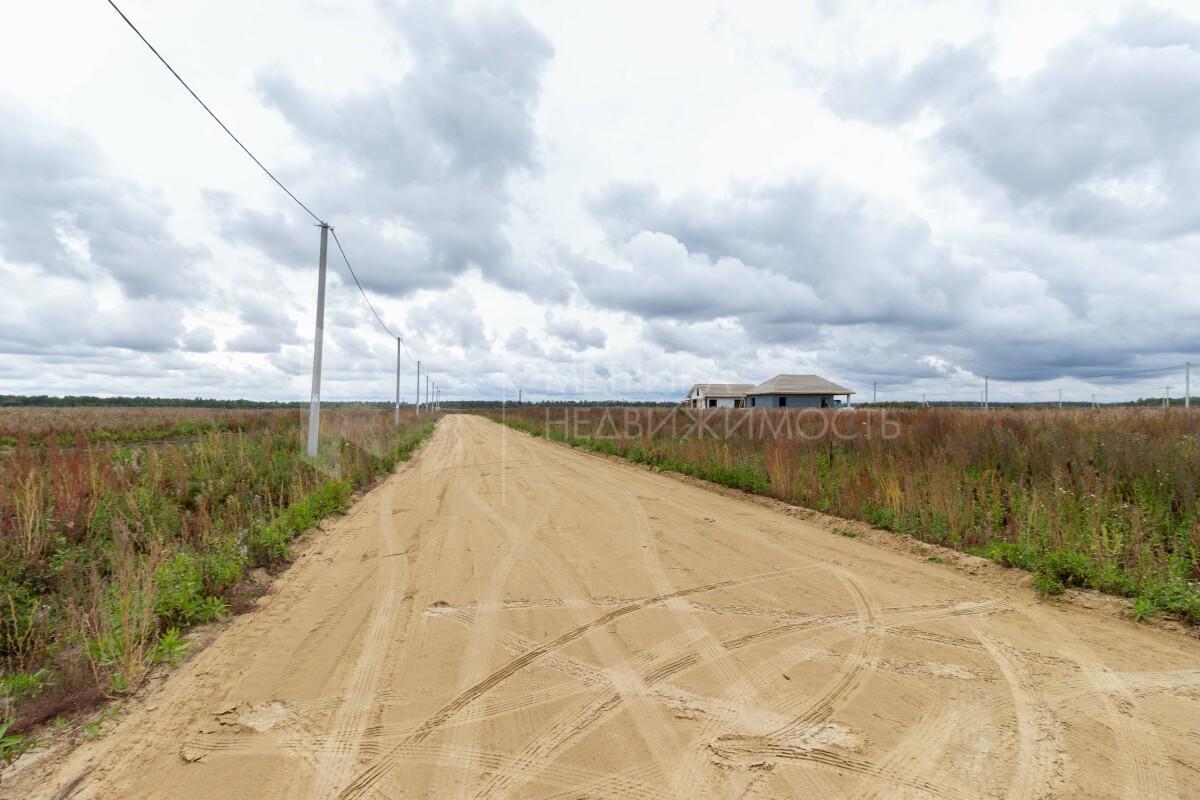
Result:
[[[992,49],[942,46],[899,74],[889,61],[834,71],[823,94],[838,113],[881,125],[930,110],[941,119],[934,151],[1033,222],[1135,239],[1200,229],[1200,24],[1132,11],[1012,80],[994,74]]]

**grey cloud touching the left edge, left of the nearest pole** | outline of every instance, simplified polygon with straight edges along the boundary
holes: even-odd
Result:
[[[167,229],[154,191],[107,172],[83,134],[0,96],[0,254],[48,275],[108,275],[130,297],[194,296],[204,251]]]

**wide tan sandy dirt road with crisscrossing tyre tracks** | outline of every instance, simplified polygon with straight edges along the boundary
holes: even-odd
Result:
[[[1200,796],[1200,643],[452,416],[13,796]]]

